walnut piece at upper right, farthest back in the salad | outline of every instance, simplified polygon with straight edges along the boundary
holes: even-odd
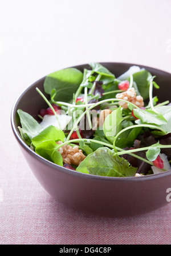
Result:
[[[116,99],[127,100],[139,108],[144,107],[143,97],[141,95],[136,96],[136,92],[133,87],[129,88],[126,92],[117,93]],[[119,105],[123,108],[128,108],[128,104],[125,103],[125,101],[119,101]]]

